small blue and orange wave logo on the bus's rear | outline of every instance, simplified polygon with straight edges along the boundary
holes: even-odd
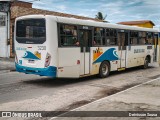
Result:
[[[33,59],[33,60],[40,60],[41,59],[41,53],[38,51],[31,53],[30,51],[26,51],[25,55],[23,56],[25,59]]]

